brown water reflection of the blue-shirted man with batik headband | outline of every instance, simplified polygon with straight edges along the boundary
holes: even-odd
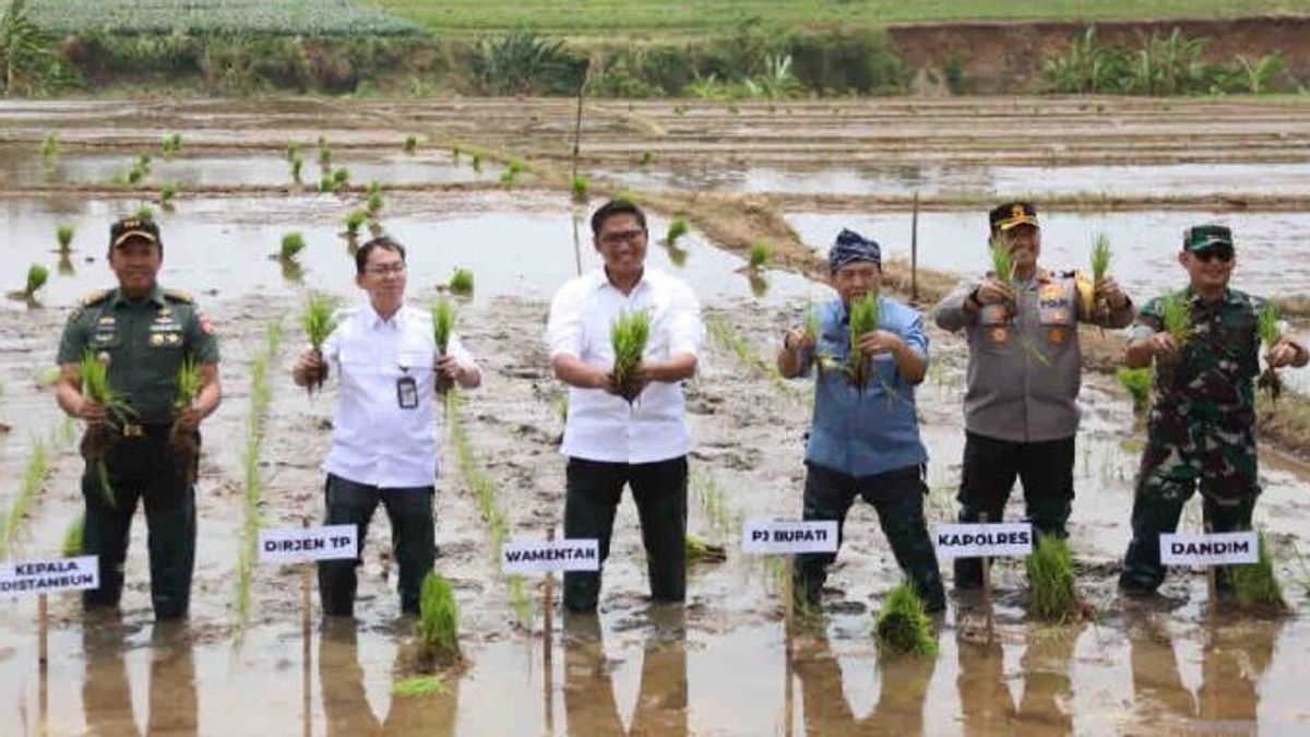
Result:
[[[866,667],[865,664],[857,667]],[[922,734],[924,702],[937,670],[935,658],[878,656],[878,703],[857,716],[842,687],[841,664],[828,637],[817,635],[796,653],[806,734]]]

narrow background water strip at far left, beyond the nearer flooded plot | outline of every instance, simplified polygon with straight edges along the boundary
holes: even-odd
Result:
[[[55,185],[103,185],[109,186],[115,177],[126,177],[136,164],[132,153],[64,153],[46,164],[39,156],[4,155],[0,152],[0,176],[10,186],[55,186]],[[152,151],[151,174],[147,178],[149,189],[157,189],[164,182],[178,185],[182,191],[194,188],[236,188],[236,186],[290,186],[292,184],[291,165],[276,155],[183,155],[164,159]],[[303,152],[305,161],[301,170],[303,181],[309,186],[318,184],[321,169],[313,148]],[[377,181],[384,185],[424,185],[451,182],[495,181],[500,168],[493,164],[476,172],[468,157],[462,165],[452,161],[449,153],[419,153],[414,156],[400,151],[394,153],[373,152],[372,155],[339,153],[333,160],[333,169],[346,168],[356,182]]]

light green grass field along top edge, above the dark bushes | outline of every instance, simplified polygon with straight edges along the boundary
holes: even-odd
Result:
[[[51,0],[46,0],[47,3]],[[790,28],[879,26],[891,22],[955,22],[971,20],[1153,20],[1169,17],[1238,17],[1305,9],[1292,0],[1049,0],[1015,4],[1002,0],[962,3],[897,3],[895,0],[383,0],[377,5],[407,16],[443,34],[486,34],[517,28],[549,34],[614,37],[705,37],[731,33],[743,18]]]

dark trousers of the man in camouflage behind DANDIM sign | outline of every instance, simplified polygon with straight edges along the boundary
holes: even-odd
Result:
[[[1159,561],[1159,536],[1162,532],[1176,532],[1178,519],[1183,514],[1183,505],[1192,498],[1196,483],[1179,483],[1166,490],[1144,488],[1138,481],[1137,493],[1133,497],[1133,539],[1128,543],[1128,553],[1124,556],[1124,569],[1119,574],[1119,585],[1125,589],[1140,591],[1154,591],[1165,581],[1165,567]],[[1218,501],[1204,494],[1201,497],[1201,515],[1210,531],[1237,532],[1251,528],[1251,515],[1255,511],[1255,494],[1248,494],[1237,500],[1237,504],[1218,504]],[[1217,581],[1221,586],[1229,586],[1225,568],[1220,568],[1221,576]]]

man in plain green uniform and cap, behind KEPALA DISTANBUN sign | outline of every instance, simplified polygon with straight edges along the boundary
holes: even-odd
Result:
[[[155,222],[126,218],[113,224],[109,266],[118,289],[92,294],[69,316],[59,342],[56,397],[64,412],[88,425],[83,551],[100,557],[100,589],[84,593],[83,605],[118,605],[132,515],[141,501],[149,526],[151,603],[157,619],[177,619],[186,615],[195,564],[196,458],[179,454],[170,433],[190,437],[198,448],[200,421],[219,407],[221,388],[214,327],[190,296],[160,289],[162,261]],[[109,387],[126,410],[110,412],[84,393],[80,362],[88,354],[107,365]],[[200,389],[189,409],[176,409],[177,374],[186,359],[200,368]]]

